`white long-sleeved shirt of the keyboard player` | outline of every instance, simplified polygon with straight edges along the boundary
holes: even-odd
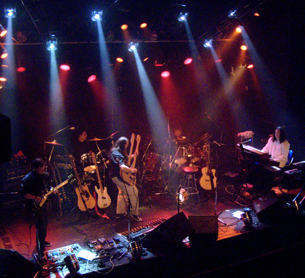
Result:
[[[285,166],[287,160],[288,160],[288,154],[289,154],[289,147],[290,144],[287,140],[280,143],[278,139],[276,139],[274,142],[272,141],[272,136],[269,138],[268,143],[264,148],[262,149],[263,153],[271,154],[271,159],[275,161],[279,161],[280,165],[279,167]]]

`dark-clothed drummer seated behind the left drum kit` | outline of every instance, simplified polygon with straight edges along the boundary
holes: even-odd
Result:
[[[75,158],[75,165],[77,172],[84,172],[83,166],[81,165],[81,156],[83,154],[91,154],[92,150],[87,141],[87,132],[84,129],[78,129],[77,131],[78,139],[74,143],[74,150],[72,152]]]

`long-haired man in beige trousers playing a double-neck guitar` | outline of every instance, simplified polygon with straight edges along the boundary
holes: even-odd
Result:
[[[121,218],[127,214],[128,195],[131,202],[130,215],[135,221],[141,222],[142,218],[139,217],[138,189],[126,182],[124,183],[120,177],[120,171],[133,174],[138,172],[138,169],[129,168],[125,165],[125,161],[128,158],[126,151],[128,144],[129,141],[126,137],[120,137],[109,151],[109,165],[112,173],[112,180],[119,189],[117,195],[117,214],[115,218]],[[132,154],[131,159],[133,159],[134,156],[135,154]]]

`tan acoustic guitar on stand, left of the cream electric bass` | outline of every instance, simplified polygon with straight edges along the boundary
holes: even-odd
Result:
[[[75,162],[71,160],[71,165],[74,170],[78,187],[75,188],[77,195],[77,206],[82,211],[88,211],[88,209],[93,209],[95,207],[95,198],[90,194],[87,185],[83,185],[81,179],[76,170]]]

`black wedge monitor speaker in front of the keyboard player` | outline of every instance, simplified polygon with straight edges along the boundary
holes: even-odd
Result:
[[[253,207],[260,222],[278,221],[283,217],[285,210],[275,194],[261,196],[253,202]]]

